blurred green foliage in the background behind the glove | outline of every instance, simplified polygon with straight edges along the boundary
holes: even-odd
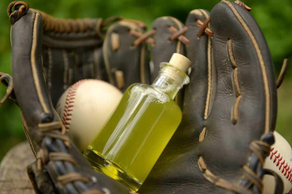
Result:
[[[0,1],[0,72],[11,74],[10,23],[6,8],[11,1]],[[161,16],[170,15],[185,22],[187,14],[197,8],[211,11],[219,1],[202,0],[111,0],[77,1],[50,0],[26,1],[30,8],[39,9],[54,17],[83,18],[122,16],[138,19],[149,27],[152,21]],[[292,59],[292,1],[266,0],[245,1],[253,8],[251,14],[259,23],[270,47],[275,64],[276,76],[279,74],[284,58]],[[21,68],[22,64],[19,64]],[[286,79],[278,90],[278,118],[276,130],[292,143],[290,122],[292,121],[292,68],[288,68]],[[0,85],[0,96],[5,93]],[[20,121],[19,108],[11,101],[0,106],[0,160],[9,148],[25,140]]]

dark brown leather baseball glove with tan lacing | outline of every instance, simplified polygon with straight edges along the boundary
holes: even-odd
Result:
[[[183,120],[138,193],[261,193],[264,174],[275,177],[275,193],[282,193],[281,178],[263,163],[274,142],[276,89],[288,61],[276,81],[267,43],[248,10],[240,1],[221,1],[211,13],[191,11],[185,25],[160,17],[145,33],[135,20],[55,19],[12,2],[13,80],[3,73],[0,79],[8,86],[4,100],[15,99],[21,109],[36,156],[28,167],[36,193],[129,193],[91,168],[54,106],[84,78],[122,91],[134,82],[150,83],[174,52],[192,61],[190,84],[176,97]]]

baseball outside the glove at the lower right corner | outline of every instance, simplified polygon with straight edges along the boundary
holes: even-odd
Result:
[[[265,159],[264,168],[273,170],[282,179],[284,193],[288,193],[292,188],[292,149],[287,140],[277,131],[274,131],[275,143]],[[275,179],[271,175],[264,175],[263,193],[274,194]]]

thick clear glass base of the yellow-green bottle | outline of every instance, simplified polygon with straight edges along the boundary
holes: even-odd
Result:
[[[92,167],[97,172],[111,177],[124,184],[130,191],[136,192],[142,185],[142,182],[134,177],[128,175],[125,171],[118,167],[118,165],[104,158],[92,147],[88,147],[84,154],[85,158],[91,163]]]

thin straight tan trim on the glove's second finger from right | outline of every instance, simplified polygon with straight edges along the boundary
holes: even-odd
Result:
[[[209,115],[209,105],[211,99],[211,87],[212,87],[212,62],[211,62],[211,38],[208,37],[208,93],[206,99],[204,119],[208,118]]]

